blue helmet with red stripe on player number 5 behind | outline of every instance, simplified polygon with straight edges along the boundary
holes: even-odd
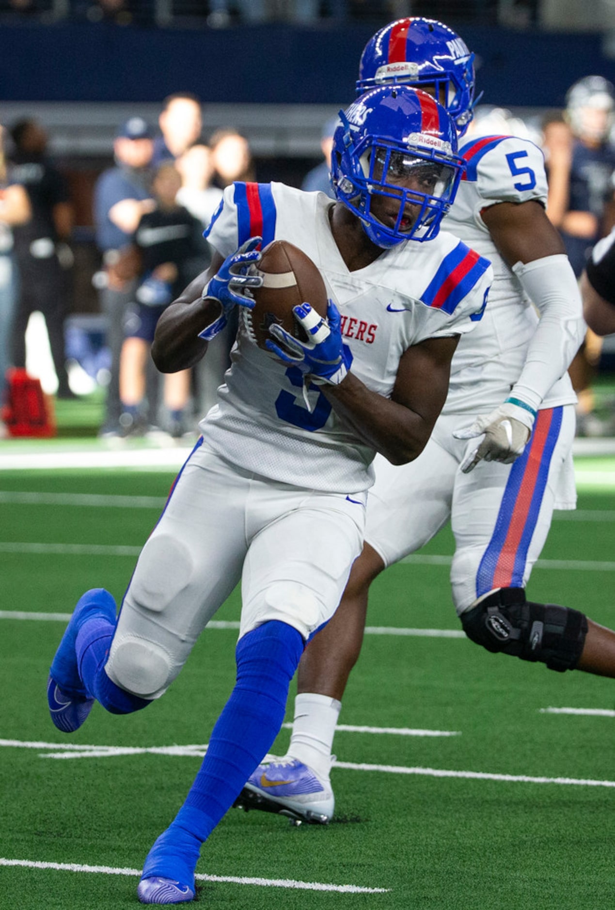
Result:
[[[409,16],[381,28],[358,65],[358,94],[374,86],[435,86],[435,97],[463,136],[472,119],[474,55],[448,25]],[[477,99],[478,100],[478,99]]]

